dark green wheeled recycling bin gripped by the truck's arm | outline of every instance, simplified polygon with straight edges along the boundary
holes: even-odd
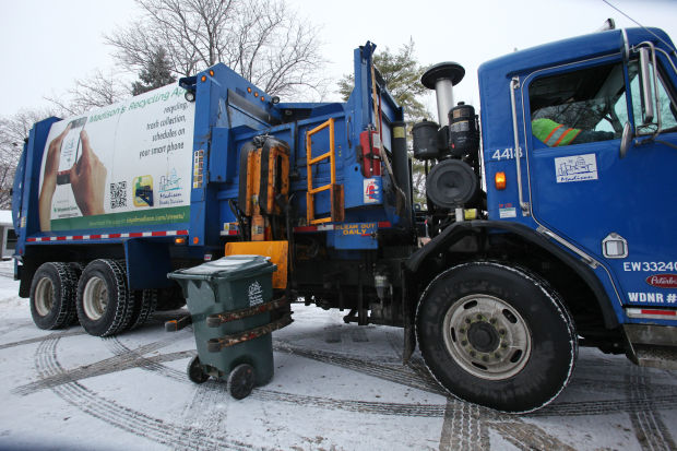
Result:
[[[228,256],[167,274],[181,285],[192,318],[198,356],[190,380],[227,380],[230,394],[242,399],[272,379],[271,332],[292,322],[290,314],[271,322],[271,311],[286,304],[272,299],[276,270],[265,257]]]

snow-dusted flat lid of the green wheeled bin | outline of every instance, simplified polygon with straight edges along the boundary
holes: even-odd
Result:
[[[276,271],[268,257],[262,256],[227,256],[218,260],[202,263],[186,270],[171,273],[177,278],[228,278],[237,280],[268,274]],[[170,277],[174,278],[174,277]]]

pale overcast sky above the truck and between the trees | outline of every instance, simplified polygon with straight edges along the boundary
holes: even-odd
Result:
[[[645,26],[677,39],[677,0],[609,0]],[[596,31],[611,17],[617,27],[636,26],[603,0],[286,0],[296,15],[318,27],[325,78],[353,71],[353,49],[367,40],[396,51],[414,40],[421,66],[455,61],[465,79],[454,98],[478,107],[477,68],[484,61],[551,40]],[[75,79],[96,69],[115,71],[104,40],[139,13],[133,0],[0,0],[0,61],[4,86],[0,116],[48,105]],[[378,49],[377,49],[378,51]],[[331,94],[326,99],[337,99]],[[304,102],[307,98],[284,98]],[[432,93],[426,98],[435,111]]]

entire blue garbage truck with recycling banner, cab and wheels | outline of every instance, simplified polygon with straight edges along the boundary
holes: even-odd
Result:
[[[669,37],[607,29],[494,59],[478,114],[453,99],[463,67],[435,64],[438,120],[411,130],[375,47],[355,50],[345,103],[283,102],[216,64],[37,122],[13,190],[35,323],[121,333],[180,301],[167,273],[261,254],[286,299],[402,327],[405,361],[418,345],[452,394],[496,410],[553,401],[579,346],[675,368]]]

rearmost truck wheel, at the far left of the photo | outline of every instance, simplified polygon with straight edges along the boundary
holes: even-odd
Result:
[[[78,276],[68,263],[48,262],[31,283],[31,316],[40,329],[61,329],[75,317]]]

